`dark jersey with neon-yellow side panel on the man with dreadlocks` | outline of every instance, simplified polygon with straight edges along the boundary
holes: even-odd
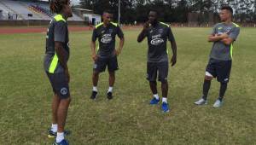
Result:
[[[64,61],[69,58],[67,21],[63,19],[61,14],[55,15],[50,21],[46,36],[46,49],[44,56],[44,70],[48,73],[63,73],[58,56],[55,52],[55,42],[61,42],[65,52]]]

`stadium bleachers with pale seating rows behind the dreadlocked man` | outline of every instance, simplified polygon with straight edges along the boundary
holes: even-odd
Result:
[[[49,4],[42,2],[1,0],[0,11],[0,20],[51,20],[54,16]],[[83,21],[76,14],[68,20]]]

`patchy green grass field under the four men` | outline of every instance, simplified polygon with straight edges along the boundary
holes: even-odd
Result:
[[[235,44],[230,85],[224,106],[213,108],[219,84],[212,82],[209,103],[196,107],[211,45],[209,28],[173,28],[177,65],[169,72],[170,113],[149,106],[146,41],[138,30],[125,31],[119,55],[114,99],[108,101],[108,73],[102,73],[96,102],[89,99],[91,32],[70,33],[70,144],[256,144],[256,29],[241,28]],[[45,34],[0,35],[0,144],[50,144],[52,90],[43,69]],[[170,46],[170,44],[168,44]],[[171,50],[170,50],[171,52]],[[160,85],[158,85],[160,87]]]

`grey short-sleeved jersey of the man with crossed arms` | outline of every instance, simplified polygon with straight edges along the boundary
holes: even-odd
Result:
[[[230,38],[236,41],[240,32],[240,26],[235,23],[225,24],[218,23],[213,27],[212,35],[227,33]],[[226,45],[221,41],[214,42],[210,53],[210,58],[220,61],[232,60],[233,43]]]

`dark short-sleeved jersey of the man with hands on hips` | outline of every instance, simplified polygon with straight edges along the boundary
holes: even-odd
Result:
[[[124,33],[116,23],[110,22],[106,27],[101,23],[95,27],[91,40],[96,42],[98,38],[99,47],[97,55],[99,57],[107,58],[114,55],[116,35],[119,38],[124,38]]]

